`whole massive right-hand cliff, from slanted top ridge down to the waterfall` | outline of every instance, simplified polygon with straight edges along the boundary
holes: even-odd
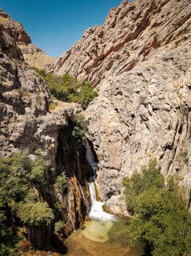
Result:
[[[102,198],[117,200],[123,177],[153,157],[189,195],[190,15],[189,0],[123,0],[49,69],[99,91],[86,115]]]

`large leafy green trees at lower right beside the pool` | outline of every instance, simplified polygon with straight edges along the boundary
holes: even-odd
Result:
[[[125,178],[126,201],[134,212],[126,231],[129,244],[145,241],[154,256],[191,253],[190,215],[173,177],[164,185],[156,159],[142,173]]]

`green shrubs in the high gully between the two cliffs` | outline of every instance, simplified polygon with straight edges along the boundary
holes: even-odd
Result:
[[[81,104],[83,109],[86,109],[89,102],[98,96],[96,91],[93,91],[90,82],[78,82],[69,74],[57,76],[53,73],[45,73],[44,69],[38,69],[34,66],[31,69],[35,70],[49,86],[49,92],[60,101],[76,102]]]

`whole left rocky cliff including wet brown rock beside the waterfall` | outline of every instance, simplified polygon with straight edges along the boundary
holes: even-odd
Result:
[[[4,25],[0,23],[0,155],[10,156],[18,149],[27,148],[29,157],[35,159],[34,150],[41,150],[41,154],[49,161],[44,176],[45,184],[50,189],[48,191],[45,187],[41,193],[34,188],[34,192],[41,202],[47,201],[52,209],[56,202],[60,205],[61,213],[54,209],[55,221],[65,222],[63,236],[66,237],[83,223],[87,215],[89,190],[86,186],[91,170],[86,164],[85,155],[82,155],[81,150],[77,152],[73,144],[68,142],[67,150],[62,149],[60,134],[65,133],[68,122],[72,122],[82,109],[75,103],[57,101],[55,109],[52,112],[49,110],[51,100],[47,85],[26,64],[18,45],[20,40],[29,43],[29,36],[21,24],[15,27],[7,14],[0,12],[0,15],[10,21],[5,21]],[[65,166],[65,193],[58,192],[55,186],[59,175],[58,165]],[[14,214],[11,216],[15,217]],[[56,239],[53,235],[54,223],[52,227],[30,228],[16,218],[15,225],[25,228],[26,237],[27,229],[30,241],[39,249],[46,247],[47,239]]]

